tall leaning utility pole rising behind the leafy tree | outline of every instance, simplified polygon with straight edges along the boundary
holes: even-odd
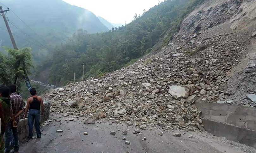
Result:
[[[15,50],[18,50],[18,47],[17,47],[17,45],[16,45],[16,43],[15,43],[15,40],[14,40],[13,35],[12,35],[12,32],[11,32],[11,29],[10,29],[10,27],[9,27],[8,21],[7,21],[6,17],[5,17],[5,14],[7,13],[7,11],[9,11],[9,8],[7,8],[7,10],[3,10],[3,7],[0,6],[0,13],[2,14],[2,15],[1,15],[1,14],[0,14],[0,15],[3,16],[3,20],[4,20],[4,22],[5,22],[5,25],[6,25],[6,27],[7,27],[9,36],[10,36],[10,38],[11,38],[11,42],[12,42],[13,48],[14,48]],[[6,13],[4,14],[4,12],[6,12]],[[30,81],[29,81],[29,79],[28,79],[27,72],[24,71],[24,74],[25,74],[24,80],[25,80],[25,83],[26,83],[26,85],[27,85],[27,89],[30,90],[30,89],[32,88],[32,86],[31,86]],[[16,76],[15,76],[14,84],[16,84],[17,79],[18,79],[18,77],[17,77],[17,75],[16,75]]]

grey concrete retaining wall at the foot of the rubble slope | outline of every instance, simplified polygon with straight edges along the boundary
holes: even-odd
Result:
[[[256,147],[256,109],[219,103],[195,103],[207,132]]]

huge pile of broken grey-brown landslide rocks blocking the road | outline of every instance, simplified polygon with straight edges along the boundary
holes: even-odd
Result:
[[[203,130],[201,112],[194,102],[233,103],[224,87],[232,68],[246,53],[248,40],[253,39],[248,31],[230,29],[230,16],[242,13],[230,8],[240,8],[241,2],[212,2],[213,7],[189,15],[173,41],[159,53],[99,79],[52,91],[47,95],[52,111],[106,118],[142,129],[160,125]],[[209,19],[211,15],[214,17]],[[209,21],[213,18],[219,22]],[[91,118],[86,121],[94,122]]]

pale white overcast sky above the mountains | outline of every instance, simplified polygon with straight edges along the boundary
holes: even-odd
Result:
[[[142,14],[143,10],[150,9],[164,0],[64,0],[101,16],[111,23],[129,23],[135,13]]]

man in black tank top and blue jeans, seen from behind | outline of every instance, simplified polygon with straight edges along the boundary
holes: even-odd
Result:
[[[32,138],[33,137],[33,124],[35,120],[35,128],[36,128],[36,134],[37,138],[41,138],[41,131],[40,131],[40,108],[42,109],[42,112],[44,112],[44,104],[43,104],[43,99],[40,96],[37,96],[35,88],[32,88],[30,90],[30,94],[32,97],[29,97],[27,99],[27,107],[25,110],[24,118],[27,115],[28,112],[28,137],[27,138]]]

